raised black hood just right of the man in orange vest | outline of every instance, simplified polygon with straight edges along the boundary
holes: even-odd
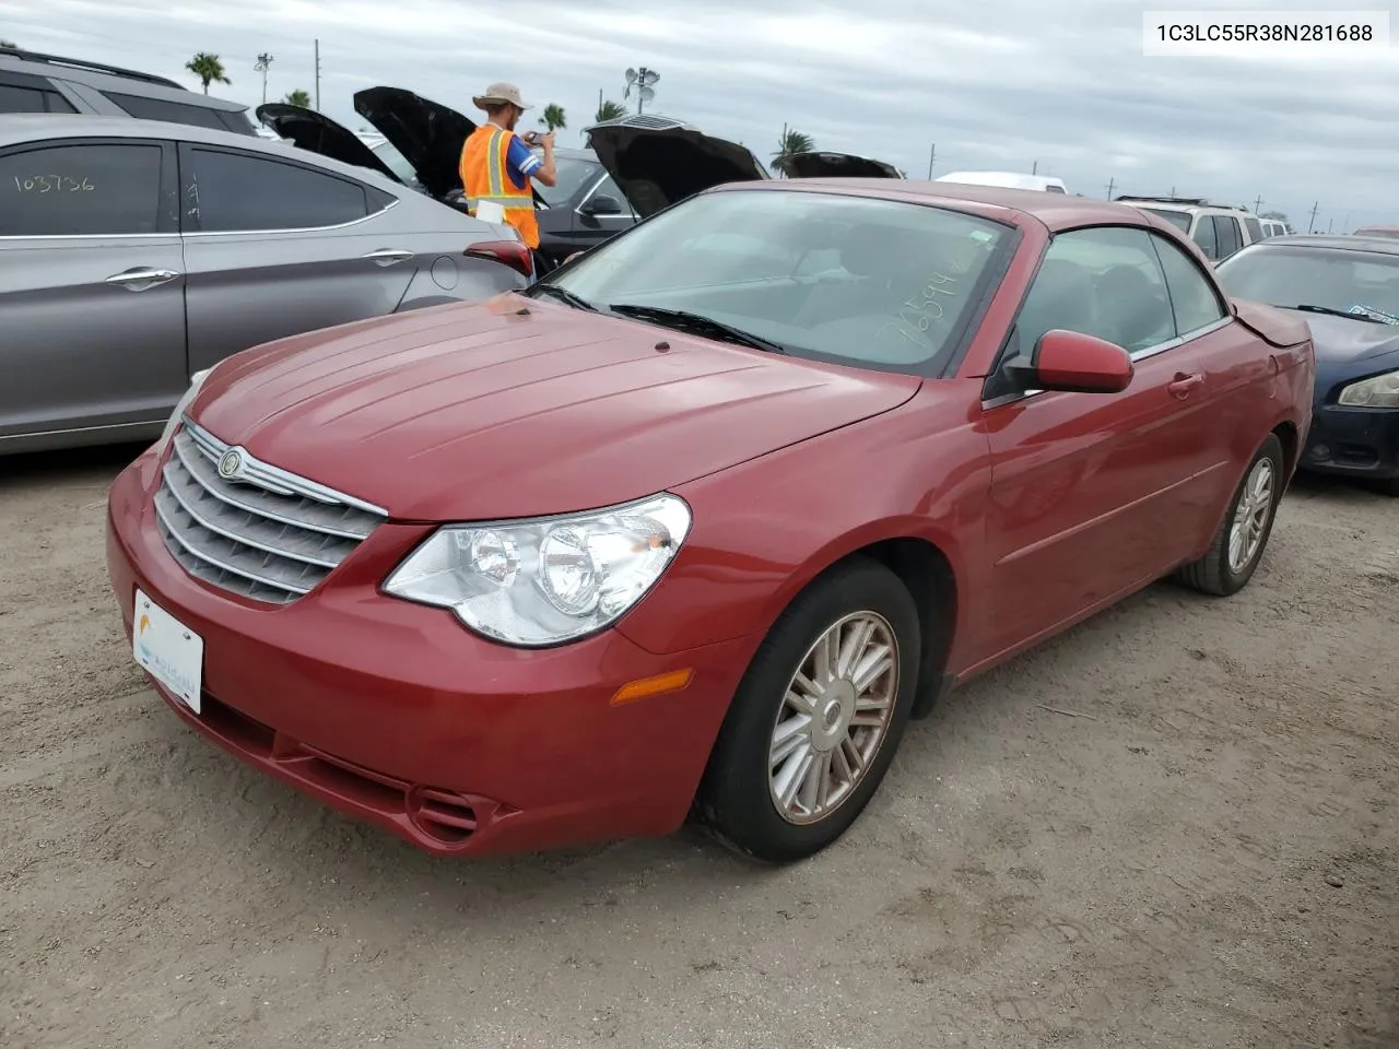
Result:
[[[760,182],[767,169],[747,147],[693,127],[588,129],[597,159],[639,218],[726,182]]]

